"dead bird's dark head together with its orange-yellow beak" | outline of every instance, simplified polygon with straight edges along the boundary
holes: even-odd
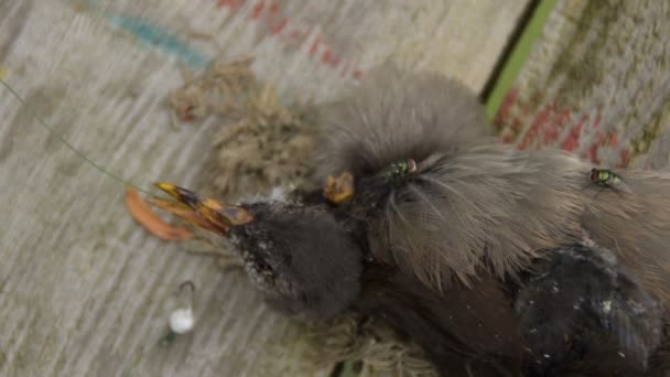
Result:
[[[231,205],[172,184],[156,185],[172,200],[151,203],[226,239],[272,306],[327,317],[358,295],[363,252],[327,211],[281,201]]]

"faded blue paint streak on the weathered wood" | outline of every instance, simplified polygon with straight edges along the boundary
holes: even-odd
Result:
[[[112,15],[108,18],[114,25],[133,34],[145,45],[161,50],[168,55],[175,56],[193,68],[202,69],[208,64],[208,58],[191,49],[174,34],[152,25],[145,20]]]

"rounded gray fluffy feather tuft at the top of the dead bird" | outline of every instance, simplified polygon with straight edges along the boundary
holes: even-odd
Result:
[[[320,127],[318,182],[344,170],[370,173],[407,155],[455,151],[493,132],[467,87],[392,65],[368,73],[346,100],[323,106]]]

